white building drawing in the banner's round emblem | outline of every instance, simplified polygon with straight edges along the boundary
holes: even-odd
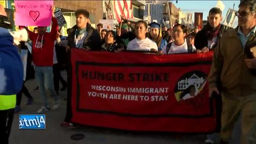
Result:
[[[182,79],[178,82],[178,90],[186,90],[190,85],[195,85],[197,89],[205,82],[204,78],[199,78],[196,74],[191,77]]]

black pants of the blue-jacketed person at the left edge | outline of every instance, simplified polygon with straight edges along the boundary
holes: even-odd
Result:
[[[0,135],[2,137],[1,143],[9,143],[9,135],[12,128],[12,121],[14,116],[14,108],[7,110],[0,110]]]

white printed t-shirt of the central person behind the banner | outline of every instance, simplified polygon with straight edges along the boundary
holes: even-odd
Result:
[[[127,50],[133,51],[150,51],[150,49],[158,50],[158,47],[154,41],[149,38],[138,39],[134,38],[128,43]]]

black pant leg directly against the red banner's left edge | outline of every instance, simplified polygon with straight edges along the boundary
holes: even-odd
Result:
[[[71,51],[67,52],[68,63],[67,63],[67,110],[66,110],[66,117],[65,122],[71,122],[72,118],[72,110],[71,110],[71,87],[72,87],[72,67],[71,67]]]

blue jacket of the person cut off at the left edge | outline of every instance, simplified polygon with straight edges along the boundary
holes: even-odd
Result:
[[[23,84],[23,68],[18,48],[9,31],[0,27],[0,95],[17,94]]]

